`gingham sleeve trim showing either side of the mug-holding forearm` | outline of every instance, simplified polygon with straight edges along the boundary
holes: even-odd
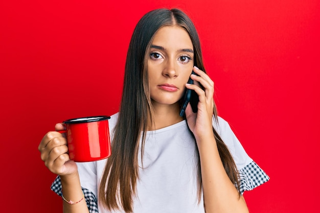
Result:
[[[85,202],[87,203],[90,213],[98,213],[98,200],[96,196],[86,188],[82,188],[84,194]],[[57,176],[55,181],[51,184],[51,190],[57,195],[62,196],[62,186],[60,176]]]

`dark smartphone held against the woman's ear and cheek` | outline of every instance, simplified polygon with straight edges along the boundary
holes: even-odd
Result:
[[[192,71],[192,74],[196,75],[195,72]],[[193,84],[193,80],[189,78],[188,84]],[[197,112],[198,111],[198,102],[199,97],[198,94],[193,89],[186,89],[184,98],[181,102],[181,109],[180,109],[180,116],[185,115],[185,110],[187,108],[188,103],[190,103],[192,111]]]

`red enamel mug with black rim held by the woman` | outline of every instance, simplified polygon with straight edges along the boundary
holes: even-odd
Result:
[[[110,116],[79,117],[64,121],[68,153],[75,162],[88,162],[110,157]]]

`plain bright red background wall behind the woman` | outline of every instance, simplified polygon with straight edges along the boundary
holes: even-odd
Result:
[[[318,212],[320,3],[305,1],[2,1],[3,212],[61,212],[37,150],[55,123],[118,111],[129,39],[143,14],[194,20],[219,114],[270,181],[251,212]]]

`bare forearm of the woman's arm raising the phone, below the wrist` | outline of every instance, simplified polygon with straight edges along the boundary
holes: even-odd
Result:
[[[205,212],[248,212],[244,199],[239,196],[223,168],[214,136],[197,139],[197,144]]]

